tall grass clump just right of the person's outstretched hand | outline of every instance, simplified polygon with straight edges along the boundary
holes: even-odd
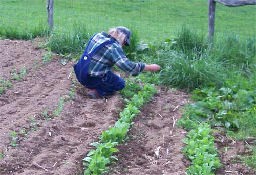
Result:
[[[226,79],[222,65],[212,61],[207,54],[201,55],[200,58],[174,54],[166,58],[166,63],[169,65],[163,67],[160,78],[167,86],[190,91],[205,86],[221,87]]]

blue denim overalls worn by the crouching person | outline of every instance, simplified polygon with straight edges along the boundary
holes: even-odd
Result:
[[[123,78],[117,76],[111,71],[108,71],[103,77],[91,77],[90,74],[88,74],[88,68],[92,56],[103,46],[116,42],[114,40],[106,41],[93,49],[93,51],[90,53],[87,53],[89,43],[95,35],[96,34],[90,38],[86,49],[83,52],[83,55],[81,56],[78,63],[74,66],[74,70],[78,81],[83,86],[95,89],[99,96],[102,97],[104,95],[110,95],[113,92],[123,89],[125,87],[125,81]]]

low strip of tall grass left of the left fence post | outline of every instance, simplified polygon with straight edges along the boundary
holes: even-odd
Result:
[[[42,23],[39,23],[33,28],[28,28],[27,30],[13,26],[0,26],[0,37],[2,38],[30,40],[37,36],[46,37],[49,34],[50,29]]]

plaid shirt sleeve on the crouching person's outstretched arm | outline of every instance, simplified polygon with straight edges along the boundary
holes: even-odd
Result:
[[[130,61],[123,53],[123,49],[121,47],[113,49],[111,58],[114,64],[124,72],[132,74],[132,76],[137,76],[145,68],[144,63],[135,63]]]

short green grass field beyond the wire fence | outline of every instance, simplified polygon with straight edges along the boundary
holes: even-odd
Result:
[[[13,28],[23,33],[39,24],[47,24],[46,1],[1,1],[1,29]],[[256,6],[229,8],[217,3],[216,36],[238,33],[241,37],[256,32]],[[206,34],[208,30],[208,1],[54,1],[54,25],[60,32],[86,26],[91,32],[114,26],[133,27],[141,40],[163,41],[186,25]],[[2,32],[3,33],[3,32]],[[3,34],[2,34],[3,35]]]

